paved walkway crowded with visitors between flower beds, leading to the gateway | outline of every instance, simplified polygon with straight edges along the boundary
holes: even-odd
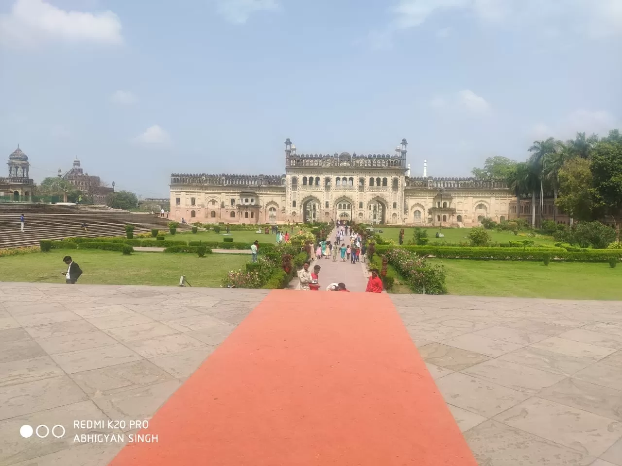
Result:
[[[337,229],[335,228],[328,235],[328,240],[334,242],[336,235]],[[345,237],[342,242],[346,245],[350,244],[350,236]],[[332,257],[317,260],[315,259],[315,254],[313,254],[313,262],[310,268],[313,268],[315,265],[322,267],[320,270],[320,290],[326,290],[326,287],[331,283],[345,283],[346,288],[350,291],[362,292],[367,287],[368,272],[366,264],[362,262],[353,264],[347,259],[346,262],[341,262],[341,257],[338,257],[336,262],[333,262]],[[295,290],[299,287],[298,277],[294,277],[289,283],[289,289]]]

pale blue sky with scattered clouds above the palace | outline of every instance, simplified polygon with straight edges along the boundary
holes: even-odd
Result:
[[[621,52],[620,0],[0,0],[0,158],[154,197],[406,138],[411,176],[468,176],[622,129]]]

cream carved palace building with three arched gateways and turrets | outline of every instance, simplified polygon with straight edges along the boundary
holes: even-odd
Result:
[[[508,186],[474,178],[411,177],[406,139],[392,154],[298,154],[285,174],[170,176],[171,217],[202,223],[355,219],[369,224],[477,226],[509,217]]]

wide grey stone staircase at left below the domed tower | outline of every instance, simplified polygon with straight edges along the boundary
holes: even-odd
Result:
[[[20,231],[19,216],[24,214],[25,232]],[[104,206],[0,203],[0,249],[39,245],[42,239],[70,237],[124,236],[125,226],[134,225],[134,234],[157,228],[168,231],[169,219],[156,214],[134,213]],[[81,229],[86,223],[88,232]],[[180,225],[178,231],[189,230]]]

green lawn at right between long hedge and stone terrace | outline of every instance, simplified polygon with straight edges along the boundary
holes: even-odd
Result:
[[[447,271],[451,295],[622,299],[622,267],[608,263],[430,259]]]

